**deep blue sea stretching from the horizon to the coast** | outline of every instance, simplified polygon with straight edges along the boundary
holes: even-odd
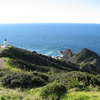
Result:
[[[75,53],[88,48],[100,55],[100,24],[0,24],[0,44],[5,38],[9,45],[48,56],[67,48]]]

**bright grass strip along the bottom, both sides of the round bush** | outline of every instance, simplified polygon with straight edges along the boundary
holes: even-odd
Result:
[[[7,89],[0,87],[0,100],[100,100],[100,92],[97,91],[71,91],[66,92],[60,99],[56,99],[56,97],[55,99],[44,99],[39,96],[41,89],[42,87],[32,89],[28,93],[28,90],[22,91],[20,88]]]

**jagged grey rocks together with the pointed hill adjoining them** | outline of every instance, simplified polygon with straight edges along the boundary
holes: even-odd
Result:
[[[77,54],[74,54],[70,49],[59,51],[63,55],[62,59],[72,63],[85,63],[100,67],[100,56],[87,48],[82,49]]]

